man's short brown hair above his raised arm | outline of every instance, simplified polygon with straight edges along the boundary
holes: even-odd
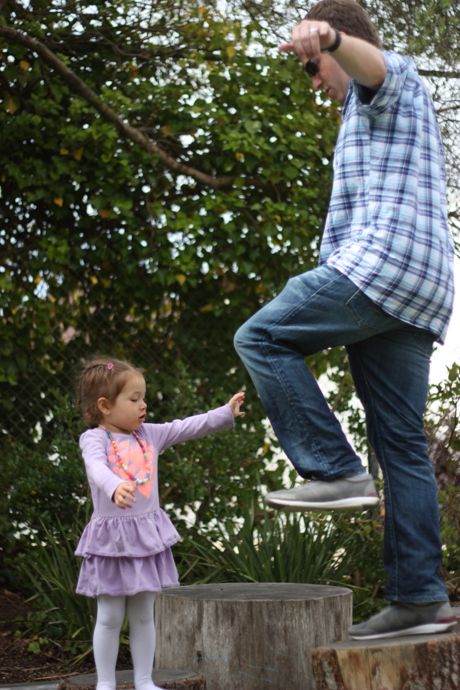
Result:
[[[377,48],[382,42],[369,15],[356,0],[319,0],[304,19],[328,22],[333,29],[362,38]]]

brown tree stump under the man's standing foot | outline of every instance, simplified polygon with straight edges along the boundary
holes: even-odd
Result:
[[[317,690],[459,690],[460,625],[440,635],[340,642],[315,649],[312,661]]]

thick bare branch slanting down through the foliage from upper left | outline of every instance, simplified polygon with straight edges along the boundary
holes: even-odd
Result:
[[[0,0],[3,3],[5,0]],[[125,122],[110,106],[101,101],[97,94],[78,77],[67,65],[58,58],[44,43],[25,34],[22,31],[13,29],[8,26],[0,26],[0,36],[7,41],[13,43],[20,43],[21,45],[35,51],[50,67],[52,67],[62,79],[77,93],[80,94],[93,108],[104,118],[104,120],[111,122],[122,136],[129,139],[134,144],[140,146],[147,153],[156,155],[160,158],[163,165],[176,173],[188,175],[202,184],[212,187],[213,189],[225,189],[232,186],[235,178],[224,175],[216,177],[208,175],[202,170],[181,163],[176,158],[170,156],[158,144],[145,136],[139,129],[132,127],[128,122]]]

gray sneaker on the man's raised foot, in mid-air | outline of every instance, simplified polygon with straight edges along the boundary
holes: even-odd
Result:
[[[379,497],[370,474],[333,479],[312,479],[293,489],[272,491],[265,502],[280,510],[353,510],[369,508]]]

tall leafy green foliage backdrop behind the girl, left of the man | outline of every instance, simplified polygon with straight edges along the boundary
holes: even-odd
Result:
[[[0,38],[0,530],[11,576],[18,551],[43,538],[39,518],[51,533],[55,514],[69,527],[87,496],[72,408],[82,358],[144,367],[155,421],[222,404],[246,383],[233,333],[316,263],[337,115],[318,110],[302,70],[254,23],[212,3],[7,3],[2,22],[179,163],[234,179],[214,189],[166,169],[36,51]],[[162,458],[162,499],[180,524],[190,510],[203,525],[220,519],[227,503],[239,515],[236,497],[267,474],[250,390],[233,434]],[[276,483],[281,470],[268,474]]]

